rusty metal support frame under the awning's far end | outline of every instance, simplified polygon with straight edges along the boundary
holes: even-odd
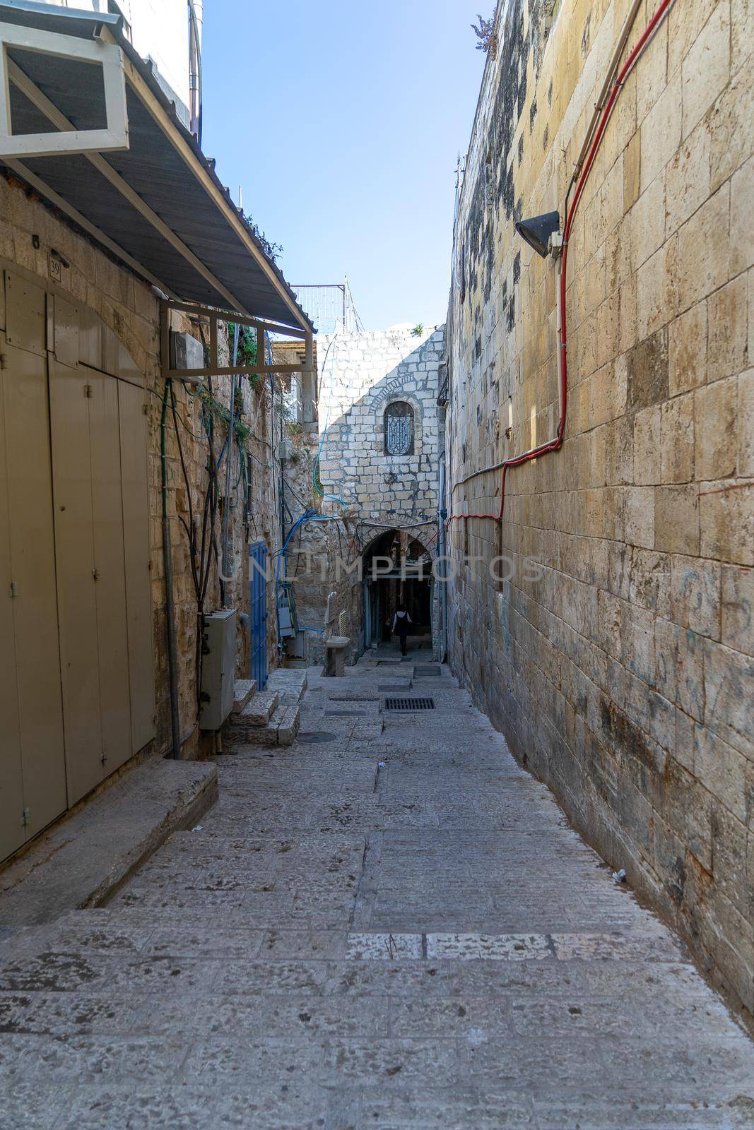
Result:
[[[209,364],[202,368],[173,368],[171,366],[171,312],[188,314],[190,318],[209,322]],[[262,365],[220,365],[217,347],[218,322],[235,322],[248,325],[257,331],[257,357],[265,357],[265,334],[279,333],[288,338],[297,338],[304,347],[304,362],[301,365],[279,365],[275,360]],[[261,318],[246,318],[234,311],[215,310],[191,302],[176,302],[165,298],[159,303],[159,355],[161,370],[165,380],[202,381],[207,376],[260,376],[266,373],[311,373],[314,368],[314,334],[310,330],[292,325],[280,325]]]

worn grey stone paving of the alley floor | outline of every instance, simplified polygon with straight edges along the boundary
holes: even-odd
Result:
[[[1,1130],[754,1125],[748,1036],[418,657],[312,672],[201,827],[0,941]]]

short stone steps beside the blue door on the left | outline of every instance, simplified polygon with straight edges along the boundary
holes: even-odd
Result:
[[[301,725],[298,704],[306,685],[306,671],[301,669],[278,668],[265,690],[258,690],[253,679],[239,679],[225,728],[226,745],[292,746]]]

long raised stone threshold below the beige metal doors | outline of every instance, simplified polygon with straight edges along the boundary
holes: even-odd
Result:
[[[103,906],[173,832],[217,800],[207,762],[144,762],[52,825],[0,870],[0,940],[69,911]]]

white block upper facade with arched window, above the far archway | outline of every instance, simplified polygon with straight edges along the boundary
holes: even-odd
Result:
[[[362,520],[402,525],[437,510],[437,366],[444,327],[318,339],[320,480],[327,508],[345,502]],[[385,455],[384,411],[414,409],[414,454]],[[341,499],[341,503],[335,499]]]

